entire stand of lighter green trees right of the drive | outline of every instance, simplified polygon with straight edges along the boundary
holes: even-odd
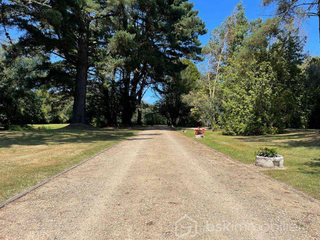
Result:
[[[190,92],[177,94],[181,106],[188,104],[189,116],[228,135],[320,128],[320,59],[304,51],[307,39],[295,19],[249,22],[244,13],[238,4],[210,33],[201,77]],[[166,98],[178,99],[171,90]]]

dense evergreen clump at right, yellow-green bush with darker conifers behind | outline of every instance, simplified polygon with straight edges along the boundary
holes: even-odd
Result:
[[[224,134],[274,134],[306,125],[300,69],[305,40],[291,25],[280,29],[276,19],[251,22],[249,36],[223,69]]]

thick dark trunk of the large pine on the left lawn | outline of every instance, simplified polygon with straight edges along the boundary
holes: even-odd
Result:
[[[85,110],[85,95],[88,77],[88,36],[82,33],[78,39],[78,60],[73,104],[72,123],[89,124]]]

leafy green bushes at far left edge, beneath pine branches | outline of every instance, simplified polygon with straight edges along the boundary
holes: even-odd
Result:
[[[6,51],[0,53],[0,125],[25,125],[44,121],[41,100],[32,89],[32,79],[42,76],[35,71],[43,56],[19,57],[6,61]],[[37,68],[37,67],[36,67]]]

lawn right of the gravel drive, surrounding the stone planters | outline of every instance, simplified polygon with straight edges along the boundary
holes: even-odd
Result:
[[[181,131],[179,131],[181,132]],[[194,131],[185,134],[194,138]],[[259,147],[276,147],[284,156],[286,170],[261,169],[263,173],[293,188],[320,199],[320,134],[318,130],[288,129],[283,134],[267,136],[225,136],[221,132],[206,131],[204,139],[197,139],[245,164],[254,164]]]

